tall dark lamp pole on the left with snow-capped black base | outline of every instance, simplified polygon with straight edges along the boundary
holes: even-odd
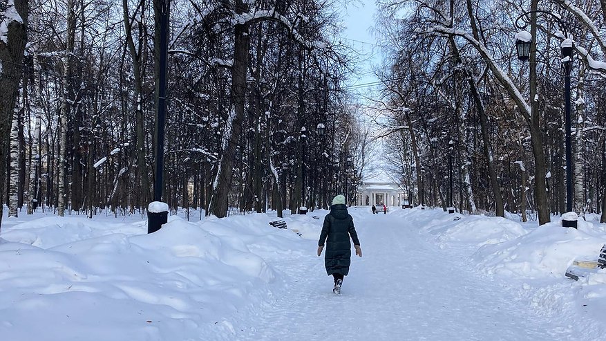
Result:
[[[153,184],[153,202],[147,207],[147,233],[160,230],[162,224],[167,223],[169,206],[162,203],[162,184],[164,183],[164,125],[167,110],[167,59],[168,59],[168,31],[171,0],[155,0],[153,5],[159,12],[160,46],[158,48],[158,116],[156,117],[155,142],[155,182]],[[159,8],[158,8],[159,7]],[[156,28],[158,29],[158,28]]]

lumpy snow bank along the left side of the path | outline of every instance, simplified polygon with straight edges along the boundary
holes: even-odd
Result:
[[[272,297],[263,255],[313,252],[266,214],[170,216],[153,234],[136,216],[95,218],[3,224],[3,340],[229,340],[229,319]]]

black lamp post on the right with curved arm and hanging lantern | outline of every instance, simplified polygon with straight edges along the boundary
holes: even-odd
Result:
[[[564,32],[565,39],[560,44],[562,50],[562,67],[564,68],[564,125],[565,125],[565,149],[566,149],[566,211],[565,216],[562,216],[562,226],[567,228],[577,228],[576,213],[572,212],[572,147],[571,147],[571,118],[570,118],[570,71],[572,69],[572,52],[574,44],[569,38],[568,30],[564,21],[553,15],[551,12],[543,10],[534,10],[524,12],[515,20],[515,26],[522,30],[515,35],[515,48],[518,53],[518,59],[525,61],[529,59],[530,46],[533,37],[524,27],[518,24],[518,21],[531,13],[542,13],[556,19],[558,25]]]

